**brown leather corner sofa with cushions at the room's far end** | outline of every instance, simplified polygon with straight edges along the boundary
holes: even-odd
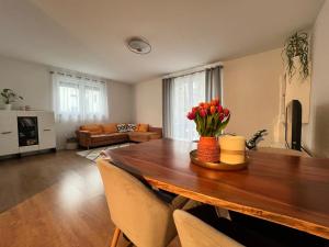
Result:
[[[162,137],[161,127],[148,126],[144,132],[117,132],[115,123],[82,125],[76,132],[81,147],[90,148],[120,143],[143,143]]]

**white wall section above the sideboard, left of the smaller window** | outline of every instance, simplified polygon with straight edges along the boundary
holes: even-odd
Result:
[[[0,90],[13,89],[24,98],[13,106],[52,110],[50,75],[46,66],[0,56]],[[3,106],[0,100],[0,106]]]

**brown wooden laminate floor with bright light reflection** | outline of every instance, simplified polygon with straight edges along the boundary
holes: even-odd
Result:
[[[113,232],[90,160],[58,151],[0,161],[0,247],[103,247]],[[131,245],[121,236],[118,246]]]

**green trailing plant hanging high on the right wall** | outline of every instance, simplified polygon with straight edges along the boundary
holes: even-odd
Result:
[[[295,75],[297,69],[304,79],[309,76],[308,47],[308,34],[306,32],[296,32],[285,42],[282,54],[285,55],[284,60],[286,63],[286,70],[290,78]],[[298,57],[300,68],[297,68],[294,64],[295,57]]]

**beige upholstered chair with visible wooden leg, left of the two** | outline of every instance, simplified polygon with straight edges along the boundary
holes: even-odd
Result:
[[[113,223],[116,226],[111,246],[116,246],[121,231],[138,247],[164,247],[177,235],[172,213],[186,199],[178,197],[171,204],[160,200],[138,179],[99,159],[98,167]]]

